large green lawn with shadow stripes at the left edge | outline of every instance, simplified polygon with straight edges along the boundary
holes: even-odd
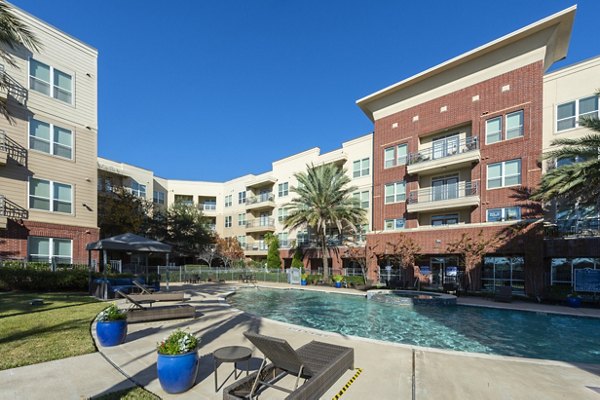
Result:
[[[77,293],[0,293],[0,370],[93,353],[90,324],[107,306]]]

